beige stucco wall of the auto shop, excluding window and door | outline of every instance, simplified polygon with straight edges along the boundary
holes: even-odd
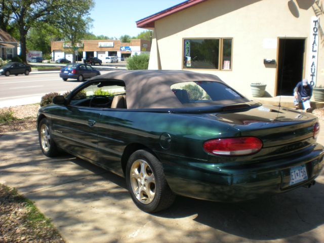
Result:
[[[305,38],[308,65],[310,19],[315,15],[308,4],[312,1],[291,2],[296,3],[296,8],[284,0],[209,0],[158,20],[149,68],[158,69],[160,65],[161,69],[182,69],[183,38],[233,37],[232,71],[195,71],[216,74],[247,96],[251,96],[250,83],[265,83],[266,91],[273,96],[276,66],[266,67],[263,59],[277,61],[277,47],[264,48],[265,39],[276,42],[278,37]],[[323,26],[324,19],[322,22]],[[323,36],[319,43],[317,84],[324,85]]]

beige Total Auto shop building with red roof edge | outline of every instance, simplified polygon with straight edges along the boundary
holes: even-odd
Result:
[[[154,30],[149,69],[212,73],[251,97],[324,85],[322,0],[189,0],[136,22]]]

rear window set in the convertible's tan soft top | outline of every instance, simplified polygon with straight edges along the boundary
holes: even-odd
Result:
[[[213,81],[178,83],[172,85],[171,90],[182,104],[214,101],[216,101],[215,103],[221,103],[220,101],[233,101],[231,103],[247,101],[245,97],[230,87]]]

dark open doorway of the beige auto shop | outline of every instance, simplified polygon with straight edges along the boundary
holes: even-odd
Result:
[[[303,77],[304,52],[305,39],[279,39],[276,95],[293,95]]]

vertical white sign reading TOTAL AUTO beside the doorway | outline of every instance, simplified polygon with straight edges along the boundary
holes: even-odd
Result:
[[[317,57],[318,57],[318,35],[319,35],[319,18],[312,17],[310,25],[310,38],[308,50],[308,82],[312,87],[316,86]]]

